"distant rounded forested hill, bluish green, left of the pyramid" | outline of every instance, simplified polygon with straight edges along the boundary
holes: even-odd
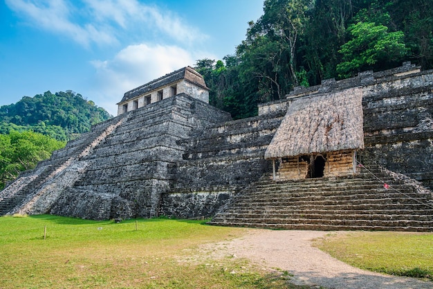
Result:
[[[81,94],[68,90],[52,94],[46,91],[36,96],[24,96],[17,103],[0,107],[0,134],[10,130],[32,130],[59,141],[75,139],[89,131],[91,125],[112,116]]]

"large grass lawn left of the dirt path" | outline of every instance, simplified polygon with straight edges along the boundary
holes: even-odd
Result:
[[[247,261],[214,261],[199,249],[243,231],[183,220],[116,224],[46,215],[1,217],[0,289],[304,288],[259,272]]]

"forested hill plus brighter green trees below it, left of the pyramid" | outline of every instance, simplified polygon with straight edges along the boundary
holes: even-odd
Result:
[[[0,107],[0,190],[66,141],[112,116],[73,91],[46,91]]]

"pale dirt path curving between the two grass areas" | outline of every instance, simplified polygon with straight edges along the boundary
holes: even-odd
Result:
[[[335,289],[432,289],[432,281],[394,277],[354,268],[311,246],[327,231],[250,229],[242,238],[216,244],[214,254],[246,258],[266,268],[287,270],[295,285]]]

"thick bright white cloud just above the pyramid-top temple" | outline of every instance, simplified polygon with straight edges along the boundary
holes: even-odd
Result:
[[[178,46],[127,46],[111,60],[91,62],[97,76],[89,95],[99,106],[116,115],[116,103],[126,91],[176,69],[194,65],[194,56]]]

